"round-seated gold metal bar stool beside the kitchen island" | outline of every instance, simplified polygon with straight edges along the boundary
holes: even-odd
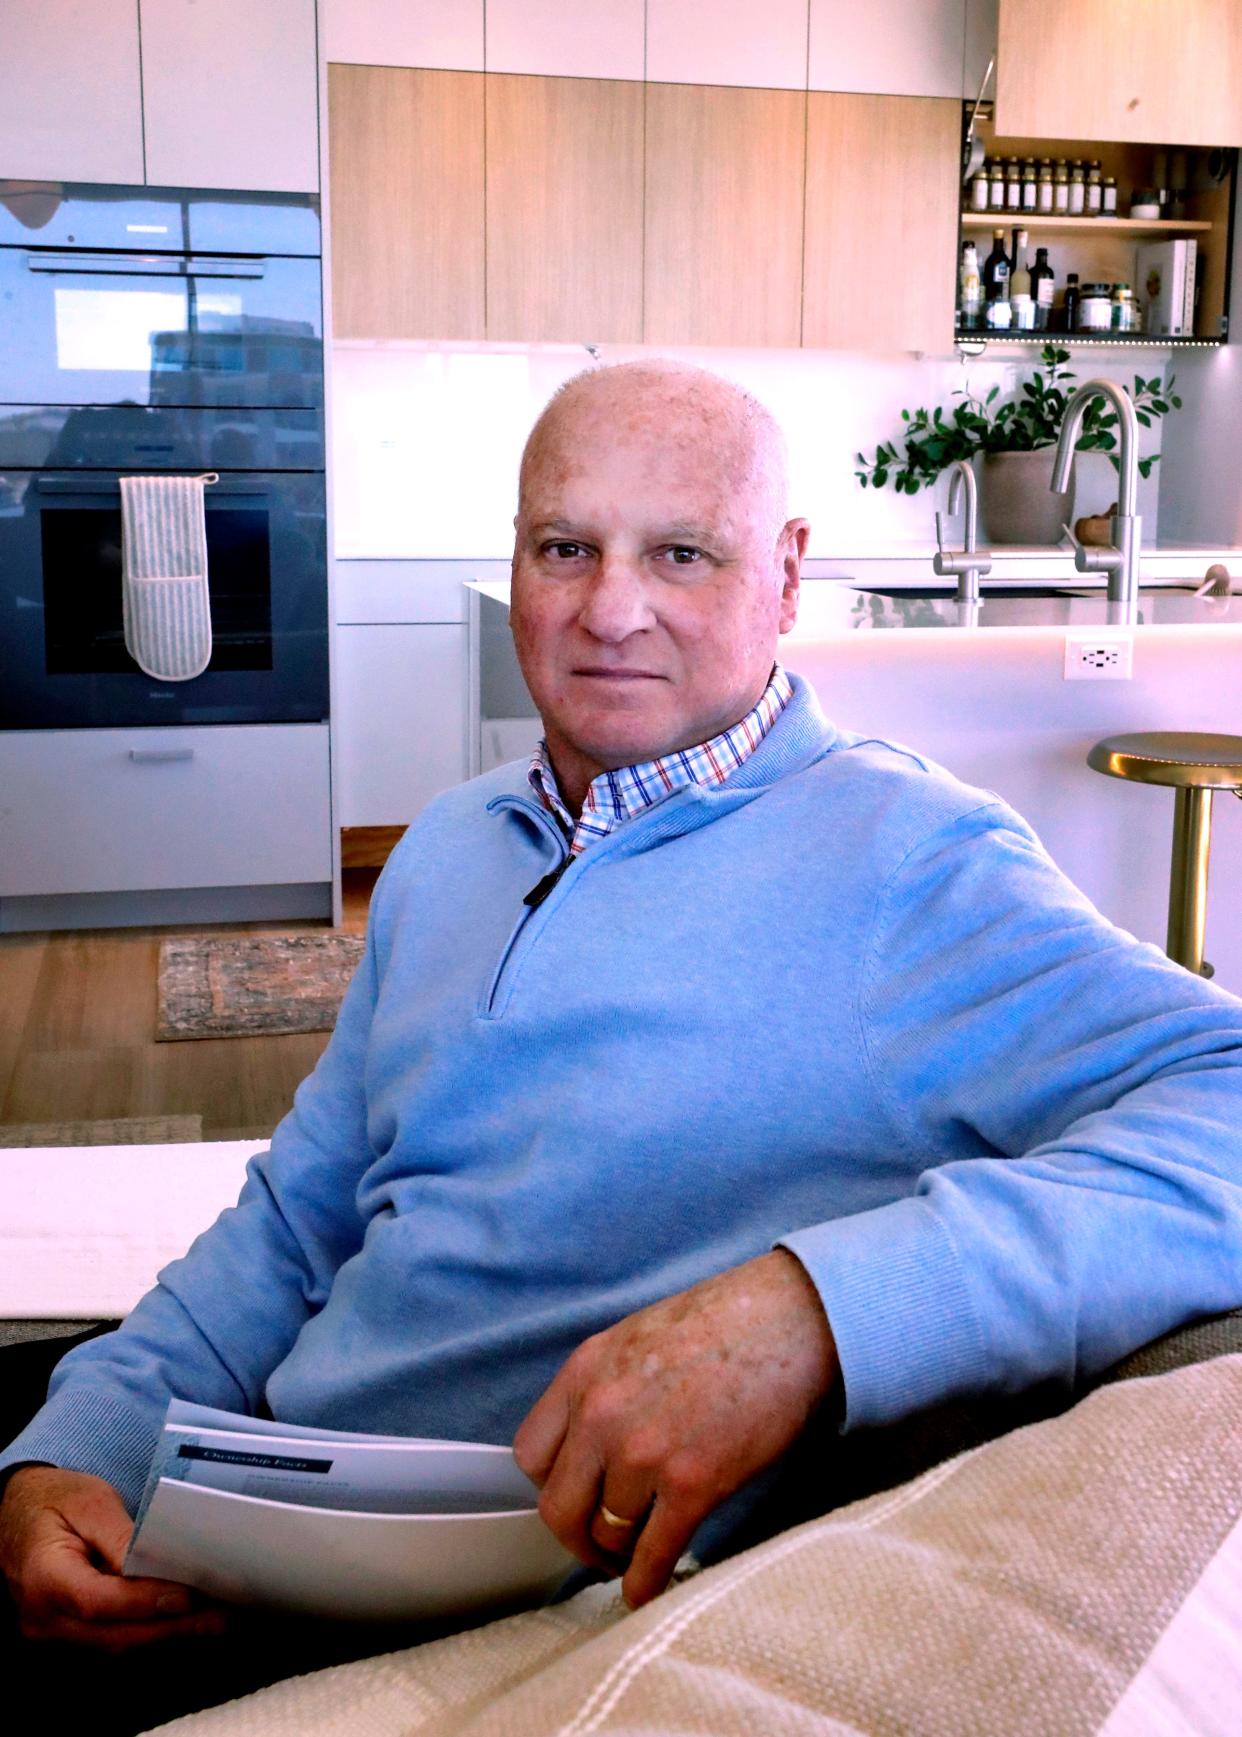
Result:
[[[1108,773],[1110,778],[1169,783],[1176,790],[1169,938],[1164,950],[1186,971],[1212,976],[1212,968],[1204,961],[1212,792],[1232,790],[1242,797],[1242,736],[1211,736],[1181,730],[1107,736],[1087,754],[1087,766]]]

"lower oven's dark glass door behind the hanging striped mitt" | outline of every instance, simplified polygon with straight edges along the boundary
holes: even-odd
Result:
[[[118,476],[0,472],[0,728],[328,716],[323,474],[224,472],[203,499],[212,660],[163,683],[125,650]]]

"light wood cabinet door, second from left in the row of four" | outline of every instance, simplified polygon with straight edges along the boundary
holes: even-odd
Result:
[[[490,339],[643,340],[643,87],[488,75]]]

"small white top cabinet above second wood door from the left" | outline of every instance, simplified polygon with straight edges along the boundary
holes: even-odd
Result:
[[[490,73],[641,82],[643,23],[643,0],[488,0],[483,64]]]

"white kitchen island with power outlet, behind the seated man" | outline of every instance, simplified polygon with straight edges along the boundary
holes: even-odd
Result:
[[[940,598],[914,594],[936,584],[929,563],[856,561],[853,571],[865,577],[849,578],[816,577],[816,568],[837,563],[811,561],[780,657],[844,728],[905,743],[1002,796],[1110,921],[1164,947],[1173,790],[1105,778],[1086,759],[1094,742],[1124,731],[1242,735],[1242,596],[1199,599],[1176,589],[1197,585],[1216,559],[1233,559],[1232,571],[1242,575],[1239,551],[1174,551],[1159,566],[1145,558],[1145,580],[1157,568],[1160,584],[1145,584],[1127,634],[1129,679],[1065,679],[1067,637],[1117,629],[1103,587],[1075,575],[1060,551],[1032,552],[1027,570],[1004,582],[1009,596],[985,596],[973,615],[954,601],[952,582]],[[1039,589],[1042,577],[1072,594],[1013,594]],[[538,724],[533,707],[518,716],[516,667],[500,683],[488,679],[488,664],[495,676],[502,662],[497,643],[507,637],[507,584],[471,591],[478,637],[490,648],[479,679],[478,764],[486,768],[525,752]],[[504,693],[504,712],[490,709],[490,686]],[[1233,994],[1242,994],[1240,912],[1242,802],[1221,794],[1206,952],[1216,981]]]

